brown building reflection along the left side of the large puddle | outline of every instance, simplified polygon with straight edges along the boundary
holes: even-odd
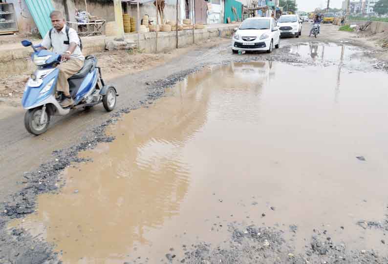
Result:
[[[93,162],[68,168],[65,187],[41,195],[38,214],[23,226],[54,242],[69,264],[115,263],[134,243],[151,245],[150,231],[179,215],[190,188],[190,142],[214,114],[257,119],[258,101],[245,100],[251,92],[261,94],[273,70],[268,62],[234,63],[189,76],[163,104],[137,110],[114,126],[115,141],[86,151]],[[197,159],[204,154],[189,152]]]

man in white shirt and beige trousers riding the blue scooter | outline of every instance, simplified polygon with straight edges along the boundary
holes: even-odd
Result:
[[[54,53],[62,55],[61,64],[57,66],[59,70],[57,92],[63,93],[65,99],[60,102],[60,105],[66,108],[74,105],[67,79],[81,70],[85,57],[81,52],[81,40],[77,32],[66,26],[63,14],[60,11],[52,11],[50,19],[53,29],[47,32],[43,38],[42,47],[38,49],[48,50],[52,47]]]

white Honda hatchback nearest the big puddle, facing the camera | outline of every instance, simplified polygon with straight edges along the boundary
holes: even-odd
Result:
[[[232,39],[232,51],[267,51],[271,53],[274,46],[280,47],[280,31],[272,18],[245,19],[239,28],[235,28]]]

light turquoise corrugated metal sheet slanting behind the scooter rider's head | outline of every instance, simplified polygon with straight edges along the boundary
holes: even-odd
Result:
[[[54,10],[51,0],[25,0],[42,38],[52,28],[50,13]]]

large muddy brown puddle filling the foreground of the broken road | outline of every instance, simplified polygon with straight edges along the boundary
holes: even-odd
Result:
[[[167,261],[183,245],[222,246],[234,221],[276,226],[296,252],[313,229],[384,252],[383,231],[357,222],[387,212],[386,81],[275,62],[206,69],[111,126],[116,140],[13,225],[64,264]]]

